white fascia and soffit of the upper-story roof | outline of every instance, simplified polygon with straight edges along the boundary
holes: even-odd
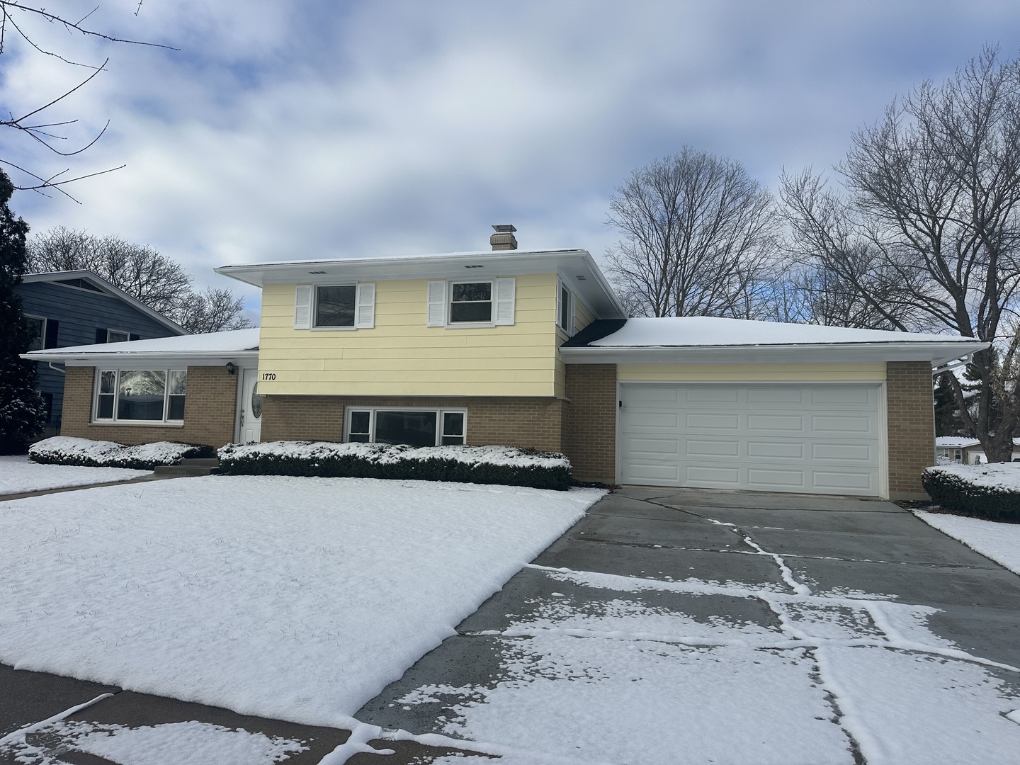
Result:
[[[481,268],[467,268],[481,265]],[[626,312],[588,250],[505,250],[390,258],[346,258],[287,263],[227,265],[213,269],[255,287],[272,284],[326,284],[337,279],[387,282],[461,276],[488,278],[528,273],[568,275],[568,282],[599,318],[623,318]],[[576,278],[577,275],[584,279]]]

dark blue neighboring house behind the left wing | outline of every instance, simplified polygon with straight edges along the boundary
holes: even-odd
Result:
[[[34,351],[190,335],[92,271],[28,273],[14,293],[36,329]],[[63,368],[43,362],[38,367],[38,390],[49,410],[45,434],[54,436],[60,432]]]

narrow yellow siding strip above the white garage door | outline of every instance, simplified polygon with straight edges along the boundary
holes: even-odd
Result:
[[[669,382],[876,382],[885,379],[883,362],[869,364],[620,364],[619,380]]]

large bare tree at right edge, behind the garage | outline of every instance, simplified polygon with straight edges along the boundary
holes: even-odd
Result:
[[[998,343],[969,364],[975,407],[949,379],[988,458],[1010,459],[1020,421],[1004,371],[1020,287],[1020,62],[986,49],[946,83],[923,83],[855,135],[838,169],[846,197],[810,172],[784,178],[795,253],[888,326]]]

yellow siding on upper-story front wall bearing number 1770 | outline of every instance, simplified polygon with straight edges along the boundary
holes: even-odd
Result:
[[[425,325],[426,279],[376,282],[375,326],[353,330],[295,329],[295,286],[266,285],[259,391],[301,396],[557,395],[562,379],[556,368],[556,274],[516,279],[512,326],[453,328]]]

